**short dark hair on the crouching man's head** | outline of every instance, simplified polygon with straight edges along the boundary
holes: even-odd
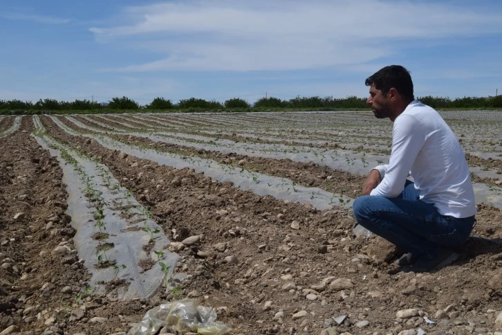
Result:
[[[366,86],[375,84],[375,89],[379,89],[386,94],[389,89],[396,89],[405,99],[413,100],[413,82],[409,71],[400,65],[389,65],[378,70],[375,74],[366,78]]]

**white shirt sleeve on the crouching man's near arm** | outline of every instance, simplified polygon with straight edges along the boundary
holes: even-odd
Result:
[[[380,176],[382,172],[384,175],[380,184],[371,191],[371,195],[397,197],[405,188],[407,176],[424,143],[425,129],[418,120],[407,114],[398,116],[394,120],[392,130],[389,164],[377,167]]]

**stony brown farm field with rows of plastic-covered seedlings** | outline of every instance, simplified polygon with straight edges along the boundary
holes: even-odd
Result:
[[[442,114],[478,215],[434,273],[353,233],[371,113],[0,116],[0,332],[127,334],[184,298],[229,334],[502,332],[502,113]]]

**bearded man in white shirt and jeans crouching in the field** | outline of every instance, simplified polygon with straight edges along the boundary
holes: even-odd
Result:
[[[467,241],[475,222],[463,150],[438,112],[414,100],[404,67],[386,66],[366,86],[373,114],[393,122],[392,149],[389,164],[369,172],[355,219],[407,251],[396,262],[403,271],[439,269],[457,259],[452,248]]]

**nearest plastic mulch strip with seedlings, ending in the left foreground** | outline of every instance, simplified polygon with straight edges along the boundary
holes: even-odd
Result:
[[[36,129],[43,129],[36,116],[33,121]],[[108,292],[105,289],[106,282],[119,279],[127,282],[127,285],[120,285],[109,292],[110,298],[153,296],[164,285],[165,277],[172,275],[179,258],[176,253],[167,250],[170,242],[162,227],[150,219],[146,209],[132,197],[132,194],[129,194],[127,189],[120,186],[105,165],[90,161],[85,156],[79,156],[71,148],[64,147],[42,133],[35,135],[35,139],[41,147],[49,150],[50,154],[57,158],[63,170],[63,181],[68,191],[66,213],[72,218],[71,226],[77,230],[73,244],[80,259],[84,260],[86,268],[92,273],[89,284],[95,288],[95,293]],[[77,162],[81,172],[85,172],[88,176],[86,182],[81,180],[76,168],[67,164],[62,158],[62,150]],[[92,188],[96,194],[100,194],[104,203],[102,233],[106,233],[106,240],[94,238],[101,232],[101,228],[98,230],[95,224],[95,204],[90,203],[83,195],[86,193],[86,188]],[[126,207],[126,212],[129,210],[129,219],[124,217]],[[145,253],[145,246],[151,243],[153,247],[150,253]],[[159,258],[155,251],[162,251],[162,257]],[[106,262],[100,262],[99,255],[102,261]],[[154,263],[151,269],[142,269],[140,263],[143,260]],[[168,266],[169,273],[165,273],[157,260]],[[97,266],[113,262],[115,266]]]

